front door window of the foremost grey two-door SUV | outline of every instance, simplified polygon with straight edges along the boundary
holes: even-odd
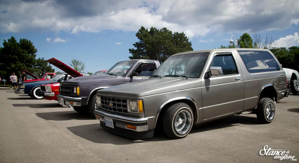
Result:
[[[232,54],[219,54],[213,57],[210,67],[221,67],[223,75],[238,74]]]

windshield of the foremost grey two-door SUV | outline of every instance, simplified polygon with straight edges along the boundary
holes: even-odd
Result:
[[[209,54],[209,52],[205,52],[169,57],[152,76],[180,77],[179,75],[183,75],[198,78]]]

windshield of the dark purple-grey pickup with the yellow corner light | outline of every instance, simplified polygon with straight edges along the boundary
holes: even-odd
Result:
[[[110,68],[104,74],[113,76],[125,76],[126,72],[136,63],[136,61],[122,61],[116,63],[112,68]]]

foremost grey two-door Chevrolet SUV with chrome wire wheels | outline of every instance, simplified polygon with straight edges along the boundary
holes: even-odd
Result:
[[[211,49],[174,54],[142,82],[97,91],[100,126],[131,138],[161,127],[173,139],[193,125],[249,111],[271,123],[288,96],[286,73],[266,49]]]

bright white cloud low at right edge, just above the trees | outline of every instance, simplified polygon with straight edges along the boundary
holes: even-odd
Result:
[[[299,36],[298,32],[294,33],[294,35],[288,35],[286,37],[281,37],[273,43],[273,47],[292,47],[299,46]]]

